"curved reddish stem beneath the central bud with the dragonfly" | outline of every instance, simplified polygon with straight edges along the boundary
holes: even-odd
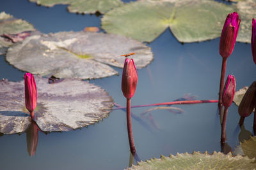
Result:
[[[127,120],[127,131],[128,131],[128,138],[129,138],[129,145],[132,155],[135,155],[135,146],[132,136],[132,122],[131,122],[131,99],[127,98],[126,103],[126,120]]]

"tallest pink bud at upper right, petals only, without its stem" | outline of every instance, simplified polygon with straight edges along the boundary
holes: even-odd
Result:
[[[236,12],[228,14],[220,37],[220,55],[222,57],[229,57],[233,52],[240,21]]]

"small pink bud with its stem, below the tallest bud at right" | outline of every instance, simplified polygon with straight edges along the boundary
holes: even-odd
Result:
[[[221,124],[221,143],[225,143],[225,134],[226,134],[226,122],[227,122],[227,113],[228,108],[232,104],[236,92],[236,79],[232,75],[228,75],[228,78],[225,83],[225,87],[222,94],[222,103],[225,106],[223,121]]]

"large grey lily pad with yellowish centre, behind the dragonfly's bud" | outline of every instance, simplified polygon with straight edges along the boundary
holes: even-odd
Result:
[[[15,67],[43,76],[102,78],[118,74],[124,53],[135,52],[137,68],[153,59],[150,47],[139,41],[96,32],[58,32],[30,36],[8,49],[6,60]]]

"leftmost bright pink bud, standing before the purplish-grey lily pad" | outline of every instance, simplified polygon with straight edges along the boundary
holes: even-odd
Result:
[[[36,108],[36,83],[33,74],[26,73],[24,77],[25,82],[25,100],[26,108],[29,112]]]

